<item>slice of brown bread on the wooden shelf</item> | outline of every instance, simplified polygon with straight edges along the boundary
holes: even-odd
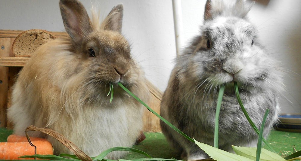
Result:
[[[39,46],[55,39],[50,32],[41,29],[31,29],[20,33],[12,45],[16,57],[30,57]]]

